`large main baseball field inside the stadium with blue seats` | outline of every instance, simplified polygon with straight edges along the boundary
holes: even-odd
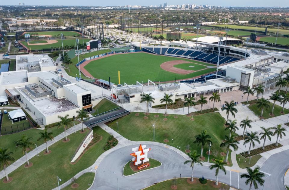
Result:
[[[176,65],[181,66],[179,68]],[[215,66],[214,64],[143,52],[109,55],[88,61],[81,66],[93,77],[104,80],[110,77],[113,83],[118,83],[119,70],[120,83],[127,84],[135,84],[136,81],[147,82],[148,79],[152,81],[188,79],[216,70],[208,68]]]

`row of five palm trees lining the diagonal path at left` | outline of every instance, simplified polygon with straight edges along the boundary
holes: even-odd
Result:
[[[84,109],[81,109],[81,110],[76,111],[76,112],[78,114],[76,119],[79,119],[81,121],[82,131],[84,131],[83,121],[86,118],[89,118],[89,114]],[[69,118],[68,114],[64,117],[58,116],[58,118],[60,119],[60,122],[57,125],[57,127],[58,128],[61,126],[64,127],[65,140],[67,141],[66,128],[68,126],[72,126],[73,122]],[[45,128],[45,130],[43,132],[39,132],[39,134],[40,134],[40,137],[37,139],[37,141],[43,140],[45,142],[45,145],[46,145],[46,153],[49,153],[48,141],[54,139],[53,132],[48,132],[47,128]],[[27,135],[23,134],[23,135],[21,135],[21,138],[19,140],[15,141],[15,151],[18,151],[19,149],[22,150],[22,153],[25,154],[25,157],[26,157],[27,166],[30,165],[29,159],[27,157],[27,151],[33,150],[34,145],[35,145],[35,143],[32,141],[32,139],[33,139],[32,137],[28,137]],[[4,169],[7,181],[9,181],[9,178],[8,178],[8,174],[6,172],[6,167],[9,165],[10,162],[15,161],[15,159],[12,157],[12,154],[14,154],[14,153],[9,152],[8,148],[1,148],[0,147],[0,167],[3,167],[3,169]]]

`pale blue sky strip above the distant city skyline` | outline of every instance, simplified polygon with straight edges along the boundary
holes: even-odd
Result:
[[[160,5],[165,2],[168,3],[168,5],[182,5],[182,4],[196,4],[196,5],[219,5],[219,6],[264,6],[264,7],[270,7],[270,6],[281,6],[281,7],[289,7],[289,1],[288,0],[277,0],[277,1],[269,1],[269,0],[239,0],[239,1],[233,1],[233,0],[222,0],[222,1],[216,1],[216,0],[196,0],[196,1],[188,1],[188,0],[166,0],[166,1],[155,1],[155,0],[146,0],[146,1],[136,1],[136,0],[110,0],[110,1],[79,1],[79,0],[2,0],[0,3],[1,5],[19,5],[19,2],[25,3],[25,5],[67,5],[67,6],[73,6],[73,5],[92,5],[92,6],[102,6],[102,5],[143,5],[143,6],[149,6],[149,5]]]

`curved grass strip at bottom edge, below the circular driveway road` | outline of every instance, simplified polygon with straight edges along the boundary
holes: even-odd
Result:
[[[199,179],[194,178],[194,180],[197,180],[197,184],[189,184],[187,182],[187,178],[181,178],[179,179],[178,176],[176,176],[176,186],[178,187],[178,189],[181,190],[229,190],[230,186],[222,184],[220,188],[214,188],[211,184],[213,184],[213,181],[209,181],[207,182],[206,185],[202,185],[199,182]],[[171,185],[174,185],[171,180],[167,180],[164,182],[160,182],[157,183],[155,185],[152,185],[148,188],[145,188],[145,190],[167,190],[167,189],[171,189]]]

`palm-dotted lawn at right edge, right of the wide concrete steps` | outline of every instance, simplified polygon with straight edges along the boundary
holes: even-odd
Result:
[[[260,116],[260,115],[261,115],[261,111],[257,108],[257,104],[250,104],[248,107],[249,107],[249,109],[250,109],[251,111],[254,112],[255,115],[257,115],[257,116]],[[282,114],[280,113],[280,111],[282,111],[282,107],[275,104],[275,106],[274,106],[274,112],[273,112],[274,116],[270,116],[269,114],[270,114],[271,111],[272,111],[272,107],[273,107],[273,103],[270,102],[270,107],[269,107],[269,109],[263,111],[263,118],[264,118],[264,119],[268,119],[268,118],[271,118],[271,117],[276,117],[276,116],[282,115]],[[289,113],[289,110],[287,110],[286,108],[284,108],[284,114],[288,114],[288,113]]]

